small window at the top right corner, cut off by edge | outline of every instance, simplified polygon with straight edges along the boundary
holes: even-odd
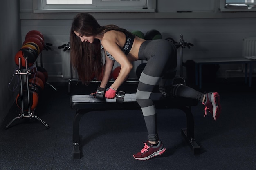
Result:
[[[220,0],[221,11],[256,11],[256,0]]]

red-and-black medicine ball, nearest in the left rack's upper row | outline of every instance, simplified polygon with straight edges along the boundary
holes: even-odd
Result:
[[[20,61],[21,61],[22,67],[26,67],[26,60],[25,60],[26,58],[27,58],[28,67],[31,67],[36,60],[34,54],[31,51],[26,49],[20,49],[15,55],[14,61],[18,66],[19,66],[19,58],[21,59]]]

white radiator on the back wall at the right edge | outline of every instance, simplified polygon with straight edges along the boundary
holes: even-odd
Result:
[[[256,56],[256,37],[248,37],[243,39],[243,57]]]

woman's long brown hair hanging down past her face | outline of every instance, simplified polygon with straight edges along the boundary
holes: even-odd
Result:
[[[76,69],[79,79],[85,84],[102,73],[103,62],[101,45],[98,39],[92,44],[81,42],[74,31],[84,36],[102,36],[110,30],[130,33],[116,25],[100,26],[97,20],[88,13],[78,13],[73,20],[70,30],[70,61]]]

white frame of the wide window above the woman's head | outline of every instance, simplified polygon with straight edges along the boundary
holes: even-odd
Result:
[[[33,0],[34,13],[155,12],[155,7],[156,0],[92,0],[92,4],[46,4],[46,0]]]

